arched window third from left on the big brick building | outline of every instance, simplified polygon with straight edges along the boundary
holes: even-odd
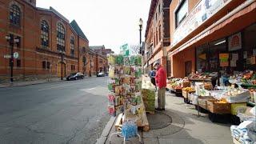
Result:
[[[57,26],[57,50],[66,51],[65,50],[65,29],[61,23],[58,23]]]

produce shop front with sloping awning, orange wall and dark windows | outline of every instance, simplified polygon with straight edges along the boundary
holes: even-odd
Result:
[[[174,38],[175,43],[168,51],[171,75],[184,78],[196,72],[234,74],[236,71],[256,70],[255,15],[256,2],[246,1],[230,14],[215,19],[214,24],[204,30],[192,31],[190,35],[198,33],[193,37],[177,42]]]

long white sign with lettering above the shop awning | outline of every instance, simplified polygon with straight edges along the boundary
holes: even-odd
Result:
[[[174,31],[172,46],[186,38],[188,34],[201,26],[203,22],[211,18],[231,0],[202,0],[184,19],[180,26]]]

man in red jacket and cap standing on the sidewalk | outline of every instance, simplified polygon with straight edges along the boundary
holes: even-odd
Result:
[[[156,110],[165,110],[166,106],[166,70],[162,68],[159,62],[154,62],[154,68],[157,73],[155,82],[158,86],[158,108]]]

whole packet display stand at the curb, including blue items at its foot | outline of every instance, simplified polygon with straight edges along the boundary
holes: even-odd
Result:
[[[109,111],[110,115],[117,116],[115,124],[116,130],[114,134],[110,134],[111,138],[114,135],[124,138],[126,143],[127,136],[130,135],[129,122],[134,122],[138,127],[143,127],[143,130],[149,130],[149,123],[146,118],[145,106],[142,100],[142,56],[124,57],[122,55],[109,55],[110,64],[110,81],[108,84],[109,92]],[[128,123],[125,123],[128,122]],[[128,130],[122,129],[123,124],[127,124]],[[134,124],[133,124],[134,125]],[[137,127],[136,126],[136,127]],[[135,128],[137,129],[137,128]],[[133,129],[134,130],[134,129]],[[122,135],[125,134],[125,135]],[[131,135],[137,136],[139,142],[141,137],[138,131],[131,131]]]

